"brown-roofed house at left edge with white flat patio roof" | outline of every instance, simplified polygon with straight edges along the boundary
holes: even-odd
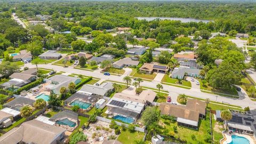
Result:
[[[11,78],[8,82],[0,84],[0,88],[2,89],[9,89],[10,87],[14,86],[15,89],[25,86],[30,82],[36,80],[37,69],[31,68],[21,73],[13,73],[9,78]]]

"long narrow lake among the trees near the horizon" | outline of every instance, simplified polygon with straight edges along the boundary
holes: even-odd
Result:
[[[147,20],[151,21],[154,19],[160,19],[160,20],[180,20],[181,22],[210,22],[212,20],[200,20],[200,19],[194,19],[194,18],[170,18],[170,17],[137,17],[138,20]]]

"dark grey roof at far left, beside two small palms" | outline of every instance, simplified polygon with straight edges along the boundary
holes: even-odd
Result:
[[[29,98],[18,97],[10,102],[4,103],[3,108],[10,108],[13,110],[20,111],[20,109],[24,106],[33,106],[34,102],[36,101]]]

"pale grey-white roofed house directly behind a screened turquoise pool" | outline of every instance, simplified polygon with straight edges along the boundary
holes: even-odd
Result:
[[[110,82],[107,82],[107,83],[102,83],[99,86],[85,84],[82,86],[82,88],[79,91],[95,95],[98,97],[98,99],[101,99],[103,97],[107,97],[113,91],[113,89],[114,89],[113,84]]]

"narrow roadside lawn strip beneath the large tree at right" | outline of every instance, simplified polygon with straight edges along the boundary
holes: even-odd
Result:
[[[233,87],[232,89],[228,89],[228,90],[224,90],[224,89],[213,89],[212,86],[210,86],[209,83],[205,83],[205,85],[203,85],[201,79],[198,79],[199,83],[200,83],[200,89],[201,90],[206,90],[206,91],[212,91],[212,92],[219,92],[219,93],[223,93],[223,94],[231,94],[231,95],[238,95],[236,89]]]

